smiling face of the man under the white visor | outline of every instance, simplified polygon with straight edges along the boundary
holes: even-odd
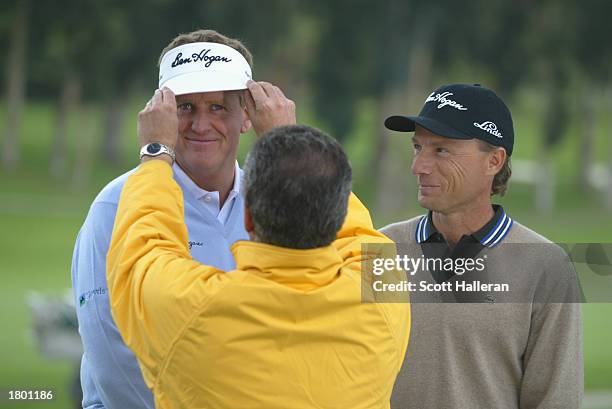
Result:
[[[201,92],[176,97],[179,119],[176,160],[196,182],[224,172],[233,175],[240,134],[250,128],[240,92]]]

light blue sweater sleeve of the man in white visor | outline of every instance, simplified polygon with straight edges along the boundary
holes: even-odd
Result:
[[[83,343],[83,407],[153,408],[138,361],[112,319],[106,285],[106,253],[117,207],[94,203],[76,239],[72,289]]]

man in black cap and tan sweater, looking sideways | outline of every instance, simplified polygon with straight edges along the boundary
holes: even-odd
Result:
[[[478,84],[445,85],[419,116],[391,116],[385,126],[414,132],[412,172],[419,204],[429,211],[381,231],[413,258],[485,266],[459,272],[433,263],[410,277],[450,283],[451,291],[411,290],[413,336],[392,407],[580,407],[575,270],[559,246],[491,203],[511,175],[508,107]]]

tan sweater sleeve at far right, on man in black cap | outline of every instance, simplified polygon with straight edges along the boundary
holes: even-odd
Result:
[[[558,260],[539,283],[542,299],[533,305],[523,357],[521,409],[570,409],[582,402],[580,289],[569,259],[563,253]],[[542,290],[542,286],[546,288]]]

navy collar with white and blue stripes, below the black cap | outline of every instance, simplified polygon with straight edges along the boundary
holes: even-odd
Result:
[[[494,214],[480,230],[469,235],[474,242],[478,242],[486,247],[495,247],[506,237],[513,220],[508,217],[501,205],[493,205]],[[421,217],[417,224],[415,239],[421,244],[427,242],[432,236],[440,234],[433,224],[432,213]]]

